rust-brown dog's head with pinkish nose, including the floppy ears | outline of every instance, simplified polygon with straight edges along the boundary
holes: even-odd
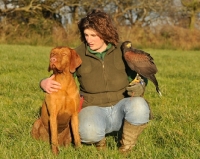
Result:
[[[53,73],[70,71],[74,73],[81,63],[82,60],[75,50],[69,47],[55,47],[50,52],[48,71],[53,70]]]

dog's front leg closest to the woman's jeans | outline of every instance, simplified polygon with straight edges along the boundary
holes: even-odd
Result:
[[[73,131],[73,136],[74,136],[74,144],[75,147],[78,148],[81,146],[81,140],[80,140],[80,135],[79,135],[79,120],[78,120],[78,113],[75,113],[72,115],[71,118],[71,126],[72,126],[72,131]]]

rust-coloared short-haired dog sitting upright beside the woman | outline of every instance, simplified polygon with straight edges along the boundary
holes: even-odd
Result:
[[[52,151],[58,154],[58,145],[68,146],[71,141],[70,122],[76,147],[81,145],[78,131],[79,90],[72,75],[82,63],[79,55],[68,47],[51,50],[49,71],[53,70],[55,81],[61,83],[58,92],[45,94],[41,116],[35,121],[32,136],[50,140]]]

